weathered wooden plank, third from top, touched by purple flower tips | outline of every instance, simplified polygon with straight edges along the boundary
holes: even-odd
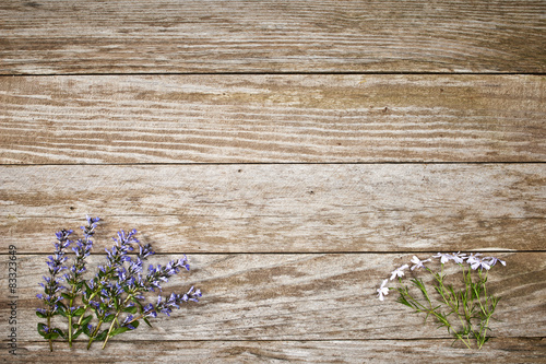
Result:
[[[546,164],[2,166],[0,176],[0,245],[21,251],[47,251],[85,213],[105,220],[100,244],[134,227],[163,253],[545,247]]]

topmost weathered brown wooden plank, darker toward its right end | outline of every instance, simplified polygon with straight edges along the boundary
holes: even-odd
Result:
[[[0,73],[544,72],[544,1],[24,1]]]

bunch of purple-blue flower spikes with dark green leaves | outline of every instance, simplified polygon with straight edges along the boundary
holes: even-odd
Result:
[[[104,349],[111,337],[136,329],[139,320],[152,326],[149,319],[157,317],[157,313],[170,316],[173,309],[180,308],[182,303],[198,302],[201,297],[201,291],[192,286],[183,294],[173,293],[165,298],[159,295],[155,303],[145,302],[147,292],[161,292],[163,283],[182,269],[189,271],[190,266],[183,256],[165,266],[150,265],[144,270],[145,260],[155,253],[150,244],[140,244],[135,230],[118,232],[114,246],[105,249],[106,263],[85,279],[86,258],[93,248],[91,238],[99,219],[87,216],[86,220],[86,226],[81,227],[83,238],[72,247],[74,257],[70,268],[67,267],[67,249],[74,243],[69,239],[73,231],[56,233],[55,253],[47,260],[49,277],[44,277],[45,283],[39,283],[44,293],[37,297],[45,308],[38,308],[36,315],[47,322],[38,324],[38,333],[49,341],[51,351],[54,340],[62,338],[72,347],[73,340],[82,333],[88,337],[87,349],[94,341],[103,341]],[[135,256],[130,255],[132,251]],[[57,315],[68,319],[66,331],[51,326],[51,319]]]

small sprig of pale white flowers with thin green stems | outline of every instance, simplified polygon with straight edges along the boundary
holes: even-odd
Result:
[[[441,265],[440,272],[434,272],[429,267],[425,266],[431,262],[432,258],[439,259]],[[451,284],[444,281],[443,266],[453,261],[459,265],[463,271],[464,287],[454,289]],[[472,348],[472,341],[475,340],[477,349],[482,349],[485,342],[489,339],[487,330],[489,330],[489,320],[497,307],[500,297],[488,294],[486,289],[487,273],[497,262],[506,266],[506,261],[496,257],[482,257],[482,254],[465,253],[438,253],[427,259],[419,259],[413,256],[411,270],[419,268],[432,274],[434,291],[438,293],[438,300],[434,300],[423,280],[414,278],[411,280],[412,286],[416,287],[422,293],[423,298],[414,296],[410,292],[410,287],[404,285],[402,277],[404,270],[410,268],[408,265],[403,265],[391,272],[390,280],[399,279],[401,287],[396,290],[400,293],[396,302],[411,307],[416,313],[426,314],[425,320],[432,316],[440,324],[439,327],[446,327],[448,332],[452,333],[456,340],[461,340],[468,349]],[[485,273],[484,273],[485,271]],[[477,275],[477,279],[473,275]],[[387,287],[389,279],[383,280],[381,286],[377,290],[379,301],[384,301],[384,296],[389,294]],[[438,305],[438,301],[440,304]],[[455,325],[452,320],[456,319],[460,325]]]

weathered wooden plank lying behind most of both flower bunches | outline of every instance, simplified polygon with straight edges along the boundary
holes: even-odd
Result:
[[[490,322],[492,334],[544,337],[546,253],[496,256],[506,260],[507,267],[492,267],[488,274],[489,294],[502,297],[496,310],[500,321]],[[154,256],[151,262],[164,265],[179,257]],[[410,262],[411,257],[412,254],[190,255],[191,270],[171,279],[163,294],[186,292],[194,285],[202,290],[202,300],[183,306],[181,312],[175,310],[170,318],[158,316],[153,328],[143,325],[138,331],[112,340],[449,339],[447,330],[437,330],[434,322],[423,325],[422,316],[396,303],[394,292],[383,302],[377,298],[376,289],[381,281]],[[35,295],[41,290],[41,274],[47,273],[45,258],[17,257],[17,338],[23,342],[39,339],[36,325],[40,319],[34,310],[40,305]],[[0,256],[2,292],[8,292],[7,261],[5,255]],[[94,272],[104,262],[104,257],[94,256],[90,270]],[[446,265],[446,272],[455,279],[460,269],[450,263]],[[417,274],[427,277],[423,271]],[[153,297],[156,295],[151,297],[156,300]],[[11,312],[8,301],[3,295],[0,298],[0,316],[4,318]],[[62,327],[63,320],[58,322]],[[0,332],[8,329],[8,319],[0,320]]]

